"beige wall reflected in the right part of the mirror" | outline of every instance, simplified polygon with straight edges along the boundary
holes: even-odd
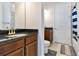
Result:
[[[25,29],[25,3],[15,3],[15,28]]]

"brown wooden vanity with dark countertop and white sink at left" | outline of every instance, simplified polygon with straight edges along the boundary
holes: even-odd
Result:
[[[36,56],[37,33],[18,34],[0,39],[0,56]]]

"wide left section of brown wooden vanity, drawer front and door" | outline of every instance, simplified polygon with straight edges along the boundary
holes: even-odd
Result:
[[[13,39],[14,41],[5,42],[0,45],[0,56],[23,56],[24,55],[24,37]]]

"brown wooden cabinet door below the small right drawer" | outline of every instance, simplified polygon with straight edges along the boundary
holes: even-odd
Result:
[[[26,46],[26,56],[36,56],[37,55],[37,42],[32,42]]]

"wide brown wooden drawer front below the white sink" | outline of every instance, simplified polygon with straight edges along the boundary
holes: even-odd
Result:
[[[22,38],[21,38],[22,39]],[[0,55],[6,55],[18,48],[21,48],[24,46],[24,40],[15,41],[7,43],[6,45],[0,46]]]

